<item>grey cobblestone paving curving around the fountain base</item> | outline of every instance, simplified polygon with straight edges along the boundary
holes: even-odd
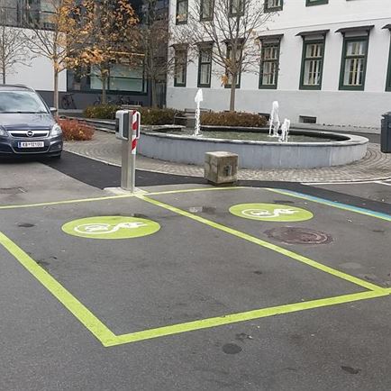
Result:
[[[121,142],[113,133],[95,132],[92,141],[67,141],[65,150],[91,159],[121,166]],[[204,168],[137,156],[137,168],[166,174],[204,177]],[[377,144],[368,144],[368,152],[358,162],[338,167],[313,169],[240,169],[239,179],[289,182],[340,182],[380,180],[391,177],[391,154],[380,152]]]

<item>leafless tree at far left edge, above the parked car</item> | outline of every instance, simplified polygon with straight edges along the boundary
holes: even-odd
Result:
[[[21,29],[0,25],[0,70],[3,84],[14,72],[16,64],[30,65],[32,52],[28,50]]]

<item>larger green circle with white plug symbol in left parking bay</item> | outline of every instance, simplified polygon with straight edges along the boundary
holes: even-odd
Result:
[[[96,216],[65,223],[62,231],[88,239],[130,239],[158,232],[159,223],[138,217]]]

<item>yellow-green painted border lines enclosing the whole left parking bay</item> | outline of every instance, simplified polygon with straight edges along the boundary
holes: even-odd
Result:
[[[159,194],[173,194],[173,193],[186,193],[192,191],[205,191],[205,190],[228,190],[235,189],[238,187],[223,187],[223,188],[199,188],[199,189],[185,189],[185,190],[174,190],[168,192],[156,192],[151,193],[150,195],[159,195]],[[98,197],[98,198],[87,198],[81,200],[68,200],[68,201],[60,201],[54,203],[42,203],[36,205],[10,205],[9,208],[16,207],[29,207],[29,206],[41,206],[41,205],[58,205],[58,204],[70,204],[70,203],[78,203],[78,202],[90,202],[90,201],[100,201],[105,199],[114,199],[114,198],[126,198],[133,195],[113,195],[106,197]],[[308,309],[320,308],[324,306],[331,305],[340,305],[344,303],[350,303],[359,300],[367,300],[371,298],[388,296],[391,294],[391,288],[382,288],[381,286],[376,286],[374,284],[369,283],[368,281],[364,281],[358,277],[350,276],[346,273],[343,273],[339,270],[329,268],[324,266],[323,264],[314,261],[313,259],[308,259],[300,254],[296,254],[293,251],[286,250],[277,245],[269,243],[268,241],[262,241],[256,237],[253,237],[247,233],[236,231],[232,228],[224,226],[220,223],[214,223],[213,221],[207,220],[204,217],[190,214],[184,210],[181,210],[175,206],[167,205],[161,203],[157,200],[149,198],[146,195],[135,195],[137,198],[149,202],[152,205],[156,205],[162,208],[165,208],[173,213],[180,214],[195,220],[198,223],[204,223],[214,229],[232,234],[233,236],[239,237],[243,240],[250,241],[254,244],[257,244],[261,247],[267,248],[268,250],[274,250],[277,253],[283,254],[286,257],[291,259],[296,259],[306,265],[309,265],[313,268],[317,268],[322,270],[323,272],[329,273],[334,277],[340,277],[350,283],[356,284],[358,286],[365,287],[369,289],[366,292],[360,292],[350,295],[343,296],[333,296],[322,299],[311,300],[307,302],[299,302],[288,305],[277,305],[268,308],[262,308],[258,310],[246,311],[238,314],[226,314],[221,316],[216,316],[213,318],[200,319],[193,322],[188,323],[177,323],[168,326],[158,327],[150,330],[144,330],[140,332],[131,332],[123,335],[115,335],[104,323],[102,323],[91,311],[89,311],[85,305],[83,305],[80,301],[77,300],[75,296],[73,296],[68,290],[59,284],[59,282],[51,277],[50,274],[41,268],[25,251],[23,251],[19,246],[17,246],[14,241],[5,236],[4,233],[0,232],[0,245],[5,247],[5,250],[14,256],[24,268],[26,268],[33,277],[37,278],[39,282],[43,286],[45,286],[50,293],[55,296],[59,302],[64,305],[68,311],[73,314],[77,320],[82,323],[88,331],[90,331],[95,338],[97,338],[105,347],[121,345],[125,343],[131,343],[135,341],[143,341],[149,340],[153,338],[159,338],[163,336],[173,335],[182,332],[191,332],[196,330],[202,330],[211,327],[217,327],[224,324],[230,323],[240,323],[246,322],[254,319],[264,318],[268,316],[274,316],[277,314],[289,314],[298,311],[304,311]],[[0,207],[5,209],[5,207]]]

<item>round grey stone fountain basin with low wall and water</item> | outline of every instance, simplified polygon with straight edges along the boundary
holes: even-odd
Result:
[[[240,168],[321,168],[364,158],[368,139],[356,135],[290,129],[286,142],[268,136],[268,128],[202,126],[194,130],[165,126],[141,132],[138,150],[148,158],[204,165],[205,152],[239,155]]]

